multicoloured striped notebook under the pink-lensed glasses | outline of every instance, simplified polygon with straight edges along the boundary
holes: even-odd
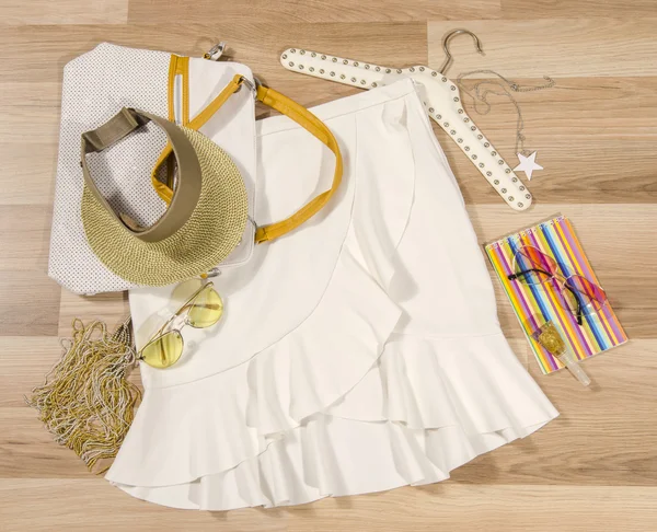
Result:
[[[554,218],[486,245],[486,254],[528,336],[543,373],[552,373],[563,368],[556,358],[529,337],[537,326],[548,320],[552,320],[560,326],[579,360],[627,342],[627,336],[610,304],[598,313],[585,315],[583,325],[578,325],[577,319],[564,309],[562,296],[554,288],[554,282],[532,286],[509,280],[507,276],[514,273],[514,255],[522,245],[538,247],[553,257],[564,276],[577,274],[597,285],[600,284],[566,217]]]

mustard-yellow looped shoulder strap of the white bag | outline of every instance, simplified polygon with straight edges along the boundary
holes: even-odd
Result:
[[[204,108],[198,115],[196,115],[189,122],[189,124],[187,124],[186,127],[191,129],[200,128],[210,119],[210,117],[217,111],[219,111],[219,108],[228,101],[228,99],[231,95],[233,95],[241,89],[243,84],[255,89],[253,88],[249,79],[244,78],[241,74],[237,74],[231,80],[231,82],[219,93],[219,95],[215,100],[212,100],[212,102],[210,102],[206,108]],[[331,188],[321,193],[315,198],[311,199],[308,204],[301,207],[289,218],[286,218],[285,220],[281,220],[279,222],[270,223],[269,225],[257,228],[255,232],[255,243],[261,244],[263,242],[278,239],[279,236],[283,236],[284,234],[297,229],[299,225],[310,220],[310,218],[316,215],[322,209],[322,207],[324,207],[328,203],[328,200],[335,194],[337,187],[342,182],[343,160],[335,137],[326,127],[326,125],[316,116],[314,116],[310,111],[299,105],[293,100],[284,96],[274,89],[269,89],[267,86],[258,84],[257,89],[255,89],[255,92],[256,99],[260,102],[295,120],[297,124],[307,129],[319,140],[321,140],[335,154],[335,172],[333,173],[333,182],[331,184]],[[155,163],[155,167],[153,169],[151,175],[151,181],[153,187],[155,188],[155,192],[168,204],[171,203],[173,198],[173,190],[164,183],[158,180],[157,172],[170,154],[171,146],[168,143],[166,148],[164,148],[164,151],[160,154],[160,158],[158,159],[158,162]]]

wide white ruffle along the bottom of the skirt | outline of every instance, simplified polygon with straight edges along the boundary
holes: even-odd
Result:
[[[194,386],[149,391],[135,421],[140,437],[124,443],[130,460],[107,477],[135,497],[206,510],[449,478],[557,415],[502,335],[463,344],[399,336],[378,359],[354,344],[345,352],[362,365],[334,351],[328,379],[288,344]]]

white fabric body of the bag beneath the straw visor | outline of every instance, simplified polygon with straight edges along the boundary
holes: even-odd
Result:
[[[80,218],[83,189],[80,136],[107,122],[122,107],[136,107],[168,118],[170,60],[169,53],[103,43],[71,60],[64,69],[48,275],[73,292],[99,293],[135,287],[110,271],[87,242]],[[189,116],[198,114],[235,73],[253,78],[243,65],[191,59]],[[235,161],[246,185],[251,216],[256,176],[254,113],[252,95],[241,91],[200,129]],[[145,129],[101,153],[88,155],[88,162],[96,186],[110,204],[138,223],[150,225],[166,209],[150,181],[166,136],[153,124],[148,124]],[[247,224],[243,244],[222,267],[238,266],[250,258],[253,232],[253,225]]]

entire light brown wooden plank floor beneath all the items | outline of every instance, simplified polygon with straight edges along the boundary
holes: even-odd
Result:
[[[494,69],[554,89],[519,96],[535,206],[506,207],[436,134],[486,242],[555,213],[572,218],[631,343],[542,377],[498,290],[504,329],[562,416],[479,458],[449,482],[293,509],[185,512],[130,498],[54,443],[23,394],[58,359],[73,316],[112,324],[124,294],[80,298],[46,275],[62,67],[97,43],[199,56],[227,41],[268,84],[314,105],[355,89],[287,72],[288,46],[450,76]],[[657,530],[657,2],[655,0],[0,0],[0,530],[655,531]],[[509,161],[515,115],[477,125]],[[498,287],[496,286],[496,289]]]

